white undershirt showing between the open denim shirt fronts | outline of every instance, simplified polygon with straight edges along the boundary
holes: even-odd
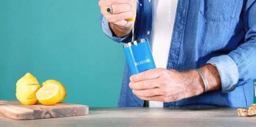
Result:
[[[152,52],[157,68],[165,68],[169,57],[178,0],[154,1]],[[149,101],[149,107],[163,107],[163,102]]]

